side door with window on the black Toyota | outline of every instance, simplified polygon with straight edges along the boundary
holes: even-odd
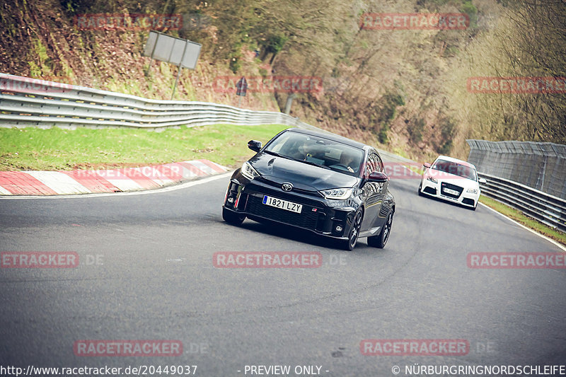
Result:
[[[364,177],[367,178],[374,171],[383,171],[383,161],[376,151],[370,150],[368,153]],[[383,196],[387,192],[388,182],[365,182],[362,187],[362,197],[365,203],[364,220],[362,221],[362,231],[371,231],[381,226],[383,219],[380,219]],[[383,217],[383,216],[381,216]],[[373,232],[371,232],[373,233]]]

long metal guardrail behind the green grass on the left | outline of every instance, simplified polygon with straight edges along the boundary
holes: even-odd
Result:
[[[315,128],[281,112],[178,100],[149,100],[52,81],[0,74],[0,127],[163,127],[285,124]]]

